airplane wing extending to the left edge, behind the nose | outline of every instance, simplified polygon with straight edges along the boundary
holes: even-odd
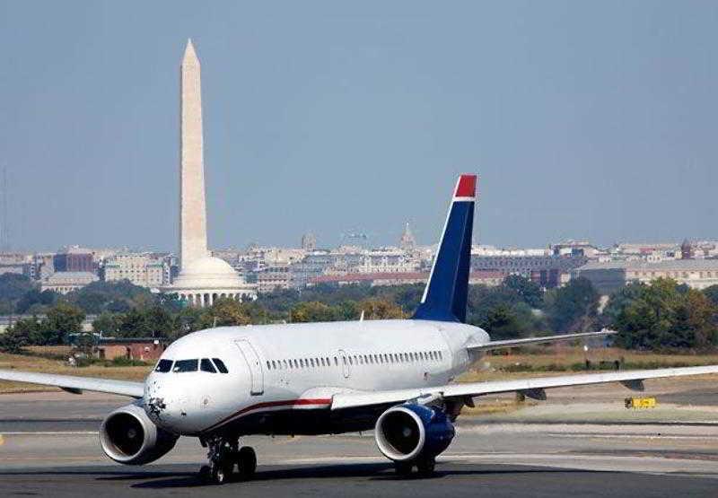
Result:
[[[129,396],[130,398],[142,398],[144,394],[143,382],[129,382],[127,380],[98,379],[93,377],[76,377],[74,375],[56,375],[53,373],[12,370],[0,370],[0,380],[28,382],[41,386],[55,386],[74,394],[82,394],[85,390],[118,394],[121,396]]]

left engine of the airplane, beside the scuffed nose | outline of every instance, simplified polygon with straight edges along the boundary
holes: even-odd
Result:
[[[144,413],[142,404],[122,406],[107,415],[100,427],[102,450],[125,465],[144,465],[174,448],[179,436],[163,431]]]

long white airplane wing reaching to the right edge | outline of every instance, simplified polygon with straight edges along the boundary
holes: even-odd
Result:
[[[545,399],[544,389],[587,386],[606,382],[620,382],[629,389],[643,390],[643,380],[664,377],[682,377],[684,375],[704,375],[718,373],[718,365],[684,368],[666,368],[656,370],[611,371],[608,373],[582,373],[557,377],[538,377],[521,380],[492,380],[487,382],[467,382],[448,384],[422,389],[397,389],[386,391],[355,391],[335,394],[331,409],[353,408],[359,406],[390,405],[404,403],[407,400],[421,398],[476,398],[486,394],[518,391],[530,398]]]

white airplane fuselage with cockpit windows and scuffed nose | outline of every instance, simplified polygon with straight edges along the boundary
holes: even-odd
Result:
[[[182,435],[365,430],[383,408],[332,413],[333,395],[446,384],[473,361],[465,346],[488,340],[481,328],[430,320],[212,328],[167,348],[144,406]]]

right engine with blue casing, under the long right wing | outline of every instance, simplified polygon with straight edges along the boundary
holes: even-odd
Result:
[[[394,461],[435,457],[449,447],[454,434],[454,426],[442,410],[408,404],[381,414],[374,429],[379,450]]]

